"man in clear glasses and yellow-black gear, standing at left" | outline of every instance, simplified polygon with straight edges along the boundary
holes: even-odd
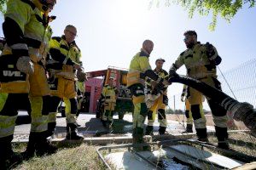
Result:
[[[75,26],[68,25],[62,37],[52,37],[49,42],[50,58],[47,62],[49,70],[49,86],[51,90],[51,105],[49,106],[49,135],[52,135],[56,126],[56,111],[61,99],[65,102],[65,113],[67,120],[67,139],[84,139],[78,132],[76,114],[78,102],[76,99],[76,75],[81,72],[82,62],[80,61],[81,52],[76,42],[77,29]],[[77,71],[76,71],[77,70]],[[79,74],[77,74],[79,75]],[[85,75],[84,75],[85,78]],[[83,78],[82,78],[83,79]],[[79,80],[80,82],[85,81]]]

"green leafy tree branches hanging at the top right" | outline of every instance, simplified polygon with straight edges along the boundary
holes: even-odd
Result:
[[[230,22],[237,11],[242,7],[253,8],[256,0],[151,0],[149,5],[156,3],[159,6],[161,1],[165,1],[166,6],[172,4],[181,5],[189,13],[189,18],[192,18],[197,11],[201,15],[212,14],[212,23],[209,29],[213,31],[217,24],[218,15],[224,20]]]

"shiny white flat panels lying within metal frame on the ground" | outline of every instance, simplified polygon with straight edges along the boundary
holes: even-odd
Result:
[[[195,147],[185,144],[172,145],[161,148],[159,150],[154,150],[152,152],[140,151],[137,152],[137,154],[139,156],[129,151],[119,151],[108,154],[105,156],[105,159],[108,164],[115,167],[115,169],[135,170],[156,169],[156,165],[166,170],[187,170],[190,168],[187,164],[181,164],[178,162],[186,162],[200,169],[223,169],[223,167],[227,169],[233,169],[244,165],[244,163],[241,161],[236,161],[234,159],[230,159],[229,157],[220,156],[206,150],[199,150]],[[148,163],[148,161],[154,164],[154,166]],[[250,165],[250,167],[253,167],[253,165]]]

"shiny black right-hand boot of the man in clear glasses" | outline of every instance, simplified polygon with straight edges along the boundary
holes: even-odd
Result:
[[[67,136],[70,140],[83,140],[84,136],[79,133],[78,127],[75,123],[67,123]]]

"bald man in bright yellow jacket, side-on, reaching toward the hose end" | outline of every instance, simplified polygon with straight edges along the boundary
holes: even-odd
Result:
[[[159,77],[149,65],[149,55],[154,48],[154,43],[150,40],[143,42],[143,48],[132,59],[127,74],[127,87],[131,91],[132,102],[134,105],[133,112],[133,144],[143,143],[143,124],[148,113],[145,103],[145,77],[160,84],[167,85],[164,78]]]

